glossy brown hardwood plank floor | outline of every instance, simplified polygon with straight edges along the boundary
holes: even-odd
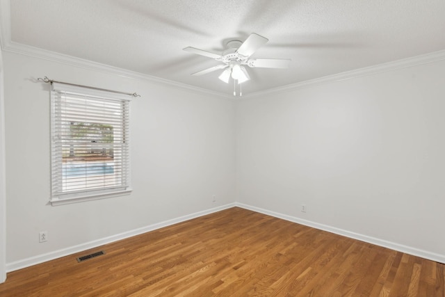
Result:
[[[432,297],[444,266],[234,207],[13,271],[0,296]]]

